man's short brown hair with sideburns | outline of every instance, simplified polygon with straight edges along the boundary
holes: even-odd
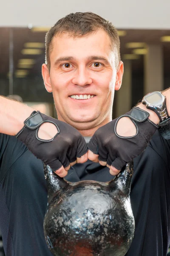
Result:
[[[50,69],[50,52],[52,51],[51,41],[54,35],[61,35],[62,32],[68,32],[71,36],[88,35],[103,29],[111,38],[113,49],[116,52],[115,64],[118,66],[120,61],[120,40],[116,28],[111,22],[93,12],[71,13],[55,23],[45,36],[45,63]]]

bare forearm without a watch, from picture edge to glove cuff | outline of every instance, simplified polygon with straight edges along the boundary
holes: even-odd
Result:
[[[33,111],[23,103],[0,96],[0,133],[16,135]]]

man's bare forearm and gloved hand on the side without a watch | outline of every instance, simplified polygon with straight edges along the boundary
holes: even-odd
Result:
[[[17,134],[37,158],[64,177],[70,165],[87,160],[87,143],[71,125],[38,112],[33,117],[33,111],[27,105],[0,96],[0,133]],[[28,125],[24,124],[26,119]],[[31,129],[30,120],[32,124],[37,122]]]

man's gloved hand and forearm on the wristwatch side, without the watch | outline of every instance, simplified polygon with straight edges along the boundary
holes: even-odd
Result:
[[[170,88],[162,93],[166,96],[167,112],[170,116]],[[112,120],[94,133],[88,143],[88,159],[99,162],[102,166],[107,165],[110,173],[117,175],[127,162],[147,147],[159,128],[159,122],[154,111],[147,109],[142,103],[138,104],[137,108]]]

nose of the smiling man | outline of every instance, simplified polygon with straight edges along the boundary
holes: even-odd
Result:
[[[79,86],[90,85],[92,83],[92,79],[88,70],[85,67],[79,67],[77,72],[74,73],[72,83]]]

